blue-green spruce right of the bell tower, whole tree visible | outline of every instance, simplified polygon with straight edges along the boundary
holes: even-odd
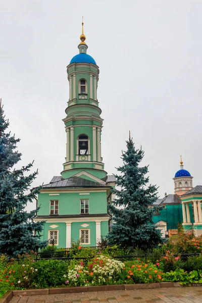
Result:
[[[157,199],[157,188],[146,187],[148,167],[139,167],[144,152],[135,149],[131,138],[126,143],[127,151],[122,151],[121,158],[123,166],[117,169],[121,175],[115,175],[119,189],[112,190],[116,198],[109,204],[114,223],[108,240],[110,244],[146,250],[162,243],[161,232],[153,222],[156,208],[149,208]]]

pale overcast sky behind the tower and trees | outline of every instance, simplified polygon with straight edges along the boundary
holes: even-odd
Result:
[[[59,176],[66,66],[78,54],[81,18],[100,68],[102,156],[109,174],[122,164],[129,130],[159,195],[174,192],[180,155],[201,185],[201,0],[0,0],[0,96],[21,139],[20,165],[34,161],[34,186]],[[28,206],[28,210],[32,209]]]

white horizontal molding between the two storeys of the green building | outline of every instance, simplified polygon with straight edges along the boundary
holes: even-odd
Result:
[[[82,217],[82,218],[35,218],[34,221],[45,221],[45,223],[73,223],[73,222],[102,222],[109,221],[109,217]]]

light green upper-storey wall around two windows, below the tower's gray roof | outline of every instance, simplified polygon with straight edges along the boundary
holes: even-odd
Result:
[[[38,195],[38,216],[49,216],[50,201],[59,200],[59,215],[80,215],[80,199],[89,199],[89,214],[107,213],[107,193],[90,192],[89,195],[80,195],[79,192],[63,192],[58,196],[49,196],[48,193]],[[54,215],[51,216],[54,218]]]

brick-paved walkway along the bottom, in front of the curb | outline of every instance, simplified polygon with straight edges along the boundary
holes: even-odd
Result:
[[[202,303],[202,286],[15,296],[11,303]]]

